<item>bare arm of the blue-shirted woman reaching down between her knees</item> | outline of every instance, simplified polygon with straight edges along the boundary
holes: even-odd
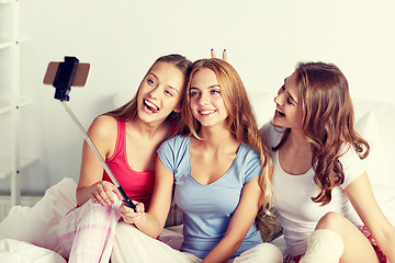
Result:
[[[240,247],[261,206],[262,191],[258,176],[249,181],[242,188],[240,203],[236,208],[223,239],[203,260],[208,262],[226,262]]]

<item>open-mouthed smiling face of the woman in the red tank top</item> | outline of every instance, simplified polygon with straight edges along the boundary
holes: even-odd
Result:
[[[144,78],[138,96],[138,117],[147,123],[163,122],[179,111],[185,78],[174,65],[160,61]]]

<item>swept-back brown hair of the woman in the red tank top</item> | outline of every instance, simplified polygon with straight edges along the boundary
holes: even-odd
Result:
[[[178,54],[171,54],[171,55],[166,55],[166,56],[159,57],[157,60],[155,60],[153,66],[150,66],[150,68],[148,69],[148,71],[144,76],[140,84],[138,85],[138,90],[137,90],[135,96],[131,101],[128,101],[126,104],[124,104],[123,106],[121,106],[119,108],[115,108],[115,110],[113,110],[111,112],[108,112],[106,115],[110,115],[110,116],[116,118],[117,121],[122,121],[122,122],[131,121],[137,115],[137,96],[138,96],[138,92],[139,92],[140,88],[142,88],[142,84],[143,84],[144,80],[146,79],[146,77],[150,73],[153,68],[158,62],[168,62],[168,64],[174,65],[182,72],[185,80],[187,80],[187,78],[188,78],[188,76],[189,76],[189,73],[191,71],[191,67],[192,67],[192,62],[189,59],[187,59],[184,56],[181,56],[181,55],[178,55]],[[183,87],[183,89],[185,89],[185,87]],[[180,102],[180,105],[182,105],[182,101]],[[178,123],[179,119],[180,119],[180,114],[176,113],[176,112],[172,112],[166,118],[166,122],[167,121],[173,121],[174,123]]]

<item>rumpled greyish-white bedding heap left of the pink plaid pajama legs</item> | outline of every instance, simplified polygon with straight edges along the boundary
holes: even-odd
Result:
[[[66,178],[49,187],[33,207],[13,206],[0,222],[0,240],[16,239],[58,251],[57,226],[77,204],[76,187],[77,183]]]

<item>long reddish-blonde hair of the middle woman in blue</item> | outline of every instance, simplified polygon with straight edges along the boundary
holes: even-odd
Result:
[[[273,190],[271,184],[271,156],[269,148],[263,144],[259,135],[256,117],[249,102],[245,85],[242,84],[236,69],[230,64],[223,59],[211,58],[200,59],[193,64],[187,84],[188,90],[191,88],[191,81],[193,76],[199,70],[204,68],[213,70],[218,80],[221,94],[228,113],[227,118],[230,133],[236,137],[238,141],[249,145],[260,153],[261,167],[263,169],[259,178],[259,184],[263,191],[263,209],[260,213],[270,214],[268,208],[271,207],[271,201],[273,196]],[[189,92],[185,92],[184,94],[185,99],[183,101],[181,114],[181,119],[184,126],[181,129],[181,135],[194,136],[195,138],[201,139],[199,136],[201,124],[192,115],[192,111],[190,107],[191,98]],[[257,218],[261,217],[258,216]],[[263,233],[269,235],[274,229],[270,220],[257,221],[257,225],[260,225],[260,230],[263,229]]]

